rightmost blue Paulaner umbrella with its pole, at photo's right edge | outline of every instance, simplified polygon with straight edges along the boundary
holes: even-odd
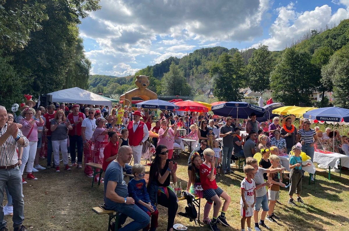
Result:
[[[326,121],[333,123],[349,122],[349,109],[340,107],[324,107],[318,108],[311,111],[307,111],[303,114],[303,118],[317,121]],[[333,142],[334,150],[334,142]]]

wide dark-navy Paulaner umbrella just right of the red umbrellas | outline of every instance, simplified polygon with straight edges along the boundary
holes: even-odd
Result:
[[[226,102],[211,107],[215,115],[231,116],[232,118],[247,119],[251,113],[263,117],[265,109],[246,102]]]

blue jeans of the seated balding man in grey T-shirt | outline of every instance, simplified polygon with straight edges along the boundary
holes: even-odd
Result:
[[[149,215],[136,205],[117,203],[117,205],[111,209],[120,213],[119,224],[121,225],[125,223],[127,217],[134,220],[121,229],[118,229],[119,231],[138,231],[140,229],[146,228],[150,222]]]

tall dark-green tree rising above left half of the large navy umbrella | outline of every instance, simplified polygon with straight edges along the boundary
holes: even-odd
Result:
[[[246,69],[242,56],[235,52],[233,56],[223,53],[210,75],[215,78],[214,95],[220,101],[241,101],[240,88],[244,86]]]

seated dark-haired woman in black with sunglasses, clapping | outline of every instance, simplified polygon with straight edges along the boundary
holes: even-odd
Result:
[[[168,208],[167,231],[172,231],[178,202],[176,193],[170,186],[170,175],[172,176],[172,182],[176,183],[177,163],[173,163],[168,159],[168,152],[169,150],[165,145],[156,147],[155,159],[150,165],[147,191],[154,205],[159,204]]]

